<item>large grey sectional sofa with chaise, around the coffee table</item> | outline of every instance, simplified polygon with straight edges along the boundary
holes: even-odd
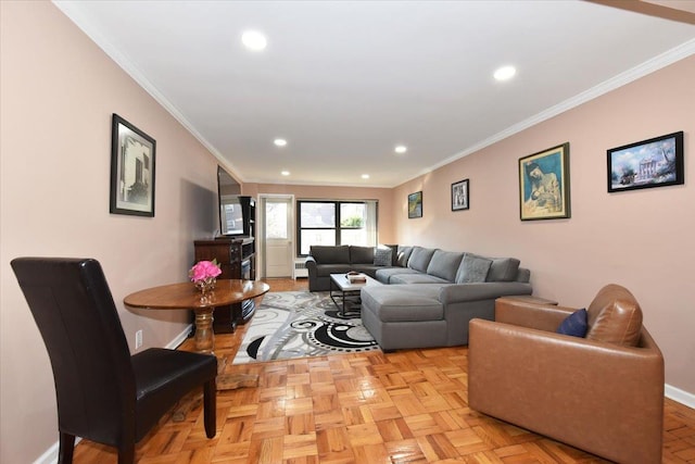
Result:
[[[386,351],[467,344],[468,322],[493,321],[497,298],[532,293],[530,271],[514,258],[389,246],[392,258],[384,265],[382,259],[375,264],[374,249],[367,263],[366,255],[357,259],[365,250],[351,254],[352,248],[365,247],[329,248],[340,247],[312,248],[306,260],[309,290],[328,290],[330,274],[349,271],[364,272],[383,284],[362,289],[362,321]],[[336,262],[340,253],[355,262]]]

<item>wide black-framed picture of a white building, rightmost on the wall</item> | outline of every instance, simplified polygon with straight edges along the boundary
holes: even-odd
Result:
[[[684,183],[683,131],[608,150],[608,191]]]

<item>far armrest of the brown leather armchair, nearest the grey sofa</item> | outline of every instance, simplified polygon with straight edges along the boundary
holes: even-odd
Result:
[[[521,327],[555,331],[573,308],[555,304],[532,303],[514,299],[495,300],[495,321]]]

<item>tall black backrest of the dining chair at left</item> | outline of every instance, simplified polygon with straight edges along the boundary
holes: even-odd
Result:
[[[51,360],[59,428],[117,446],[128,438],[124,423],[135,422],[136,384],[101,265],[62,258],[11,264]]]

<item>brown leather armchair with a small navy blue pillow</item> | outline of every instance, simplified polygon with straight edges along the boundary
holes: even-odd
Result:
[[[604,287],[584,338],[556,334],[576,309],[501,298],[469,324],[468,404],[620,463],[660,463],[664,358],[632,293]]]

